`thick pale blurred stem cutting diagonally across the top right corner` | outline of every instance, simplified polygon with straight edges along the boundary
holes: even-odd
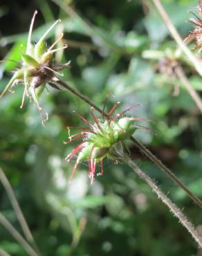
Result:
[[[163,8],[162,4],[160,3],[160,0],[152,0],[156,8],[158,9],[158,12],[160,13],[160,16],[165,21],[165,24],[171,33],[172,37],[176,40],[176,43],[178,44],[179,48],[187,55],[189,60],[194,64],[196,71],[198,71],[199,75],[202,75],[202,66],[199,60],[194,56],[192,51],[190,51],[189,48],[187,48],[185,42],[183,42],[183,39],[178,34],[178,31],[176,30],[174,24],[172,24],[172,21],[169,19],[167,12]]]

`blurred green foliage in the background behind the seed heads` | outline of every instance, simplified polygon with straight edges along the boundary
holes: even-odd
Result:
[[[118,100],[122,110],[140,104],[131,115],[154,120],[152,128],[157,134],[141,130],[134,136],[202,197],[202,120],[181,82],[158,71],[160,58],[175,54],[178,49],[152,2],[56,2],[1,1],[1,59],[20,61],[19,49],[26,42],[35,9],[39,14],[33,40],[61,18],[62,24],[50,33],[48,44],[64,32],[69,48],[55,56],[57,62],[71,60],[64,80],[100,107],[107,93],[108,109]],[[186,37],[192,30],[192,24],[185,23],[190,18],[188,11],[196,11],[197,1],[163,3],[181,35]],[[177,58],[192,86],[201,93],[201,77],[182,53]],[[1,90],[16,67],[13,62],[1,63]],[[177,96],[173,95],[175,86],[180,87]],[[26,102],[24,109],[19,109],[22,92],[23,86],[18,85],[15,93],[8,93],[0,102],[0,165],[15,190],[42,255],[197,254],[190,235],[129,167],[106,161],[104,176],[91,186],[84,163],[72,185],[68,185],[74,161],[67,165],[64,158],[75,143],[63,144],[66,126],[84,126],[73,110],[89,118],[89,106],[68,91],[50,90],[48,95],[44,92],[41,100],[50,116],[44,129],[33,104]],[[138,149],[130,144],[129,147],[140,167],[185,208],[196,226],[200,225],[199,208]],[[21,232],[3,186],[0,192],[1,212]],[[2,227],[0,247],[10,255],[26,255]]]

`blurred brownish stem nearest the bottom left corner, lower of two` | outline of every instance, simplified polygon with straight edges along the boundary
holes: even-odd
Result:
[[[0,212],[0,223],[10,232],[10,234],[24,247],[28,255],[38,256],[38,254],[33,250],[33,248],[27,243],[27,241],[17,232],[17,230],[12,226],[12,224],[3,216]]]

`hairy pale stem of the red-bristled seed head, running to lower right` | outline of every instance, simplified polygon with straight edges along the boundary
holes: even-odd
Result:
[[[129,165],[136,172],[136,174],[138,174],[140,179],[143,179],[143,181],[145,181],[152,188],[152,190],[157,194],[158,198],[160,198],[160,200],[167,205],[169,210],[176,218],[178,218],[180,223],[187,229],[188,232],[190,232],[196,243],[199,244],[200,248],[202,248],[202,237],[200,237],[199,233],[196,231],[196,228],[194,228],[193,223],[190,222],[185,214],[183,214],[183,212],[163,193],[163,191],[158,188],[155,181],[147,176],[145,172],[140,170],[138,165],[136,165],[136,163],[134,163],[129,156],[124,156],[124,159],[125,163],[127,163],[127,165]]]

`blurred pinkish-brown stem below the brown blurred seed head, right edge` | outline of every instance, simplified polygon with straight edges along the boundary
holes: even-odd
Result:
[[[194,102],[196,103],[196,105],[199,107],[201,113],[202,113],[202,102],[201,102],[201,98],[199,96],[199,94],[194,90],[194,88],[192,88],[189,80],[187,79],[183,68],[181,68],[181,66],[177,66],[174,69],[176,75],[178,76],[178,78],[181,80],[181,82],[183,82],[185,89],[187,89],[188,93],[190,93],[192,99],[194,100]]]

